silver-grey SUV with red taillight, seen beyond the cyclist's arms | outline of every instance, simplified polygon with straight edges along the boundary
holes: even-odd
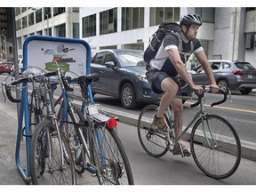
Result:
[[[209,60],[209,63],[220,89],[227,91],[229,88],[248,94],[256,88],[256,68],[251,63],[239,60]],[[210,84],[201,65],[190,74],[195,84]]]

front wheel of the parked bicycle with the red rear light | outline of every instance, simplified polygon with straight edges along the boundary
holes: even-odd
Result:
[[[85,171],[85,166],[84,166],[84,160],[82,155],[83,153],[83,148],[81,147],[82,142],[80,142],[81,136],[78,133],[79,132],[78,129],[82,129],[84,140],[85,142],[88,142],[88,136],[87,136],[88,128],[86,126],[82,127],[81,125],[78,125],[78,123],[80,124],[85,123],[84,115],[81,109],[72,104],[70,105],[69,108],[74,109],[76,117],[73,117],[70,109],[68,109],[67,117],[65,118],[65,122],[62,124],[62,127],[60,127],[60,130],[64,132],[65,137],[68,139],[68,143],[72,152],[76,172],[78,174],[82,174]],[[61,105],[58,114],[59,114],[58,121],[60,122],[63,114],[63,105]],[[68,161],[68,156],[65,156],[65,157],[66,157],[66,160]]]

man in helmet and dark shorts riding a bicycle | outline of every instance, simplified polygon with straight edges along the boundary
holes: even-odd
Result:
[[[175,35],[170,34],[164,36],[164,40],[156,53],[156,58],[150,60],[150,69],[146,73],[148,82],[152,86],[152,90],[156,93],[164,92],[153,124],[160,132],[167,132],[168,125],[164,119],[164,112],[168,105],[171,104],[174,114],[174,133],[176,137],[182,132],[183,105],[182,100],[174,99],[179,90],[179,86],[175,83],[173,77],[180,74],[182,79],[192,90],[198,93],[203,92],[202,87],[193,83],[193,80],[188,75],[188,71],[185,67],[184,63],[188,60],[188,57],[190,56],[189,53],[194,53],[196,59],[202,64],[206,75],[210,79],[212,92],[219,91],[219,87],[215,82],[212,68],[209,65],[204,49],[196,38],[198,28],[201,25],[201,18],[194,13],[182,16],[180,18],[180,36],[182,40],[181,52],[178,51],[180,40],[177,39]],[[191,44],[191,41],[193,44]],[[163,58],[165,59],[163,60]],[[190,156],[190,150],[182,143],[174,146],[173,155],[180,155],[181,150],[185,156]]]

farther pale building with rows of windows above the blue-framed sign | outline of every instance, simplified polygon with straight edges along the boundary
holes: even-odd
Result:
[[[28,36],[79,38],[79,8],[15,7],[18,54]]]

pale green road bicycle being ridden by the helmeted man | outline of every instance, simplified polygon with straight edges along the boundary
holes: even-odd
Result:
[[[188,139],[190,142],[191,154],[198,168],[205,175],[222,180],[236,172],[241,160],[241,143],[234,127],[228,120],[218,115],[209,115],[204,108],[206,93],[211,91],[210,87],[203,86],[202,95],[193,94],[191,97],[176,96],[185,100],[197,100],[191,108],[200,105],[200,108],[186,128],[175,137],[173,132],[172,108],[169,106],[164,114],[165,120],[170,129],[168,133],[158,132],[152,124],[157,113],[158,106],[148,105],[140,112],[137,130],[142,148],[149,156],[164,156],[167,151],[173,153],[174,145],[180,144],[181,139]],[[223,100],[212,103],[212,106],[219,105],[227,100],[228,92]],[[195,123],[196,122],[196,123]],[[194,124],[195,123],[195,124]],[[188,129],[194,124],[190,137]],[[181,156],[184,154],[181,150]]]

